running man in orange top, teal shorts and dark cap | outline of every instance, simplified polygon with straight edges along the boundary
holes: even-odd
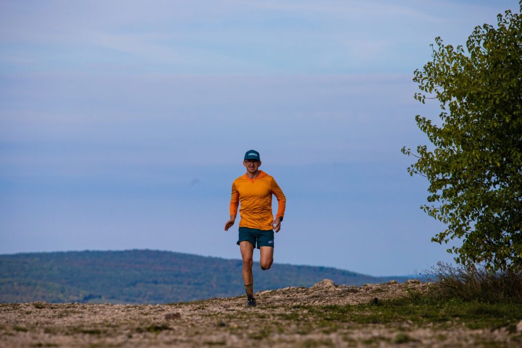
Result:
[[[238,245],[243,258],[243,281],[247,296],[247,306],[255,306],[254,279],[252,277],[252,254],[257,243],[261,254],[261,269],[267,270],[274,262],[274,232],[281,229],[286,198],[275,179],[260,171],[259,152],[246,151],[243,165],[246,173],[232,183],[230,199],[230,220],[225,223],[228,231],[235,222],[241,203]],[[272,215],[272,194],[277,198],[276,218]]]

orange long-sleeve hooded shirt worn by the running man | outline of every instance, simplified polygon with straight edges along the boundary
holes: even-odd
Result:
[[[255,179],[249,179],[246,174],[238,177],[232,183],[232,198],[230,199],[230,214],[237,215],[241,203],[240,227],[251,229],[272,230],[272,194],[277,198],[276,218],[284,216],[286,197],[271,175],[259,171]]]

